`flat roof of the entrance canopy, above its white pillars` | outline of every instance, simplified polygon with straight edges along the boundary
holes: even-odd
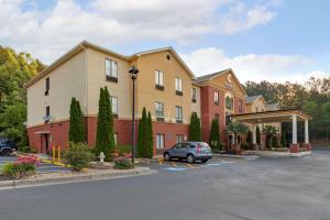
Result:
[[[232,114],[231,119],[233,121],[258,124],[258,123],[292,122],[294,116],[296,117],[297,121],[308,121],[311,119],[309,114],[302,112],[299,109]]]

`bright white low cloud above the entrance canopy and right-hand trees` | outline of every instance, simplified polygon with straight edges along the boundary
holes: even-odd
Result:
[[[180,56],[197,76],[232,68],[241,82],[246,80],[304,82],[312,76],[330,76],[330,73],[322,70],[306,70],[314,61],[299,55],[246,54],[230,57],[220,48],[207,47],[183,53]]]

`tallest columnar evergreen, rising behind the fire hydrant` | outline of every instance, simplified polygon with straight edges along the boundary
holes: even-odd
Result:
[[[100,152],[103,152],[106,160],[111,160],[111,151],[114,148],[114,145],[110,96],[107,87],[105,87],[100,88],[96,153],[98,155]]]

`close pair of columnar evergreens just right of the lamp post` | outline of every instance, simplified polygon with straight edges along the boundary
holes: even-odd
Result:
[[[142,158],[152,158],[153,156],[152,117],[150,112],[146,114],[145,108],[142,110],[139,123],[138,156]]]

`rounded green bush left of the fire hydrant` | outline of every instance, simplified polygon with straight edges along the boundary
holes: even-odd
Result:
[[[70,143],[67,151],[64,152],[63,157],[72,166],[74,170],[81,170],[88,167],[89,162],[94,158],[89,147],[84,143]]]

